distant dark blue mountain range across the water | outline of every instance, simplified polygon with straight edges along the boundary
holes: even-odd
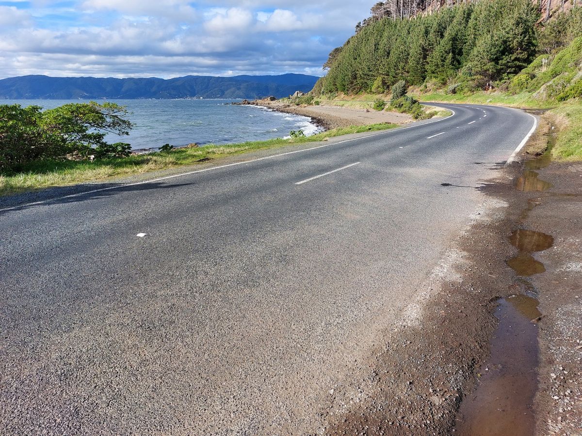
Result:
[[[0,80],[0,99],[262,98],[308,92],[319,77],[185,76],[163,79],[21,76]]]

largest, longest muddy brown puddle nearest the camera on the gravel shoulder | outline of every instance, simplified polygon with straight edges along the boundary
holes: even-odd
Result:
[[[498,301],[499,325],[491,358],[482,365],[478,386],[461,403],[456,435],[530,436],[534,434],[537,391],[538,301],[514,295]]]

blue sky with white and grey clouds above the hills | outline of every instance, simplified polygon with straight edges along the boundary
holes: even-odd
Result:
[[[374,0],[0,0],[0,78],[321,76]]]

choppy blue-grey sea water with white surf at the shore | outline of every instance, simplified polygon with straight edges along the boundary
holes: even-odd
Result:
[[[232,144],[288,137],[292,130],[313,135],[321,130],[308,117],[276,112],[261,106],[231,105],[228,99],[162,99],[107,101],[127,106],[127,119],[134,123],[129,136],[108,134],[108,142],[128,142],[133,149],[157,149],[164,144],[183,146],[196,142]],[[85,100],[8,100],[52,109],[65,103]],[[102,102],[102,101],[98,101]]]

